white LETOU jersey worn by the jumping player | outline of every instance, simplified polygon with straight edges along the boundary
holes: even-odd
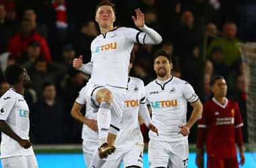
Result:
[[[133,44],[143,44],[146,33],[133,28],[116,28],[97,36],[91,44],[95,85],[127,87],[128,66]]]

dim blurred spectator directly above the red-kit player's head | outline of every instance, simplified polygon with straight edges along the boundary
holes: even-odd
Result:
[[[214,75],[221,75],[227,77],[228,66],[223,61],[223,50],[220,47],[212,48],[212,54],[210,54],[210,60],[214,66]]]

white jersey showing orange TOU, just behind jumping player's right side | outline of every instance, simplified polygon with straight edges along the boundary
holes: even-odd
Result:
[[[123,114],[120,132],[115,141],[117,148],[143,144],[143,136],[138,120],[140,103],[146,103],[143,81],[135,77],[129,77],[125,95],[125,112]]]

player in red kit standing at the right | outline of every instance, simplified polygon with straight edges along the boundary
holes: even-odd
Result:
[[[235,144],[240,153],[239,164],[245,163],[241,131],[243,120],[238,104],[226,98],[228,87],[224,77],[213,77],[210,85],[214,97],[204,104],[198,123],[197,167],[202,165],[205,144],[207,168],[238,168]]]

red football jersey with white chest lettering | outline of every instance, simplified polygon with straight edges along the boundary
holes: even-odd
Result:
[[[222,105],[214,98],[207,101],[203,106],[198,128],[199,133],[200,130],[206,133],[208,157],[236,158],[235,128],[241,126],[243,126],[243,120],[236,102],[226,99],[226,103]]]

